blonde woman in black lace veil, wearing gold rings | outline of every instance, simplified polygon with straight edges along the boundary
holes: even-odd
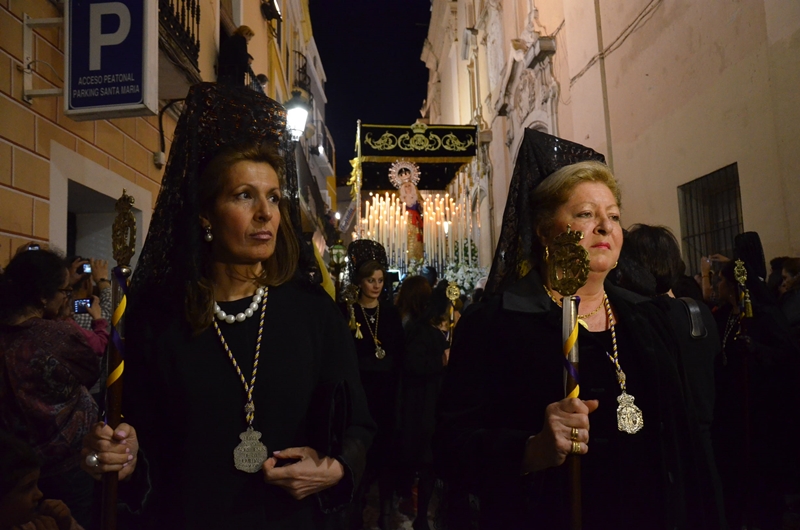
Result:
[[[598,160],[590,149],[526,131],[489,296],[456,327],[444,376],[434,451],[450,492],[449,528],[475,519],[481,528],[567,528],[562,464],[575,455],[586,530],[722,524],[685,397],[695,379],[682,373],[663,313],[605,282],[622,246],[620,193]],[[561,296],[544,259],[567,226],[584,234],[590,258],[577,292],[581,399],[564,398]],[[635,396],[638,430],[619,421],[624,395]],[[469,496],[479,503],[459,507]],[[474,515],[475,506],[472,521],[450,517]]]

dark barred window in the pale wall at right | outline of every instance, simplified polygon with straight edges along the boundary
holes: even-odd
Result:
[[[687,274],[700,272],[702,256],[733,257],[733,238],[744,231],[735,163],[678,186],[678,204]]]

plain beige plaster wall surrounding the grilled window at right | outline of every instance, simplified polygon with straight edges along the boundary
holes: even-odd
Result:
[[[760,0],[664,3],[609,55],[625,224],[665,224],[680,234],[677,186],[737,162],[745,230],[761,235],[768,258],[798,253],[800,45],[797,23],[777,22],[793,15],[789,4],[770,4],[781,16],[767,16]],[[622,26],[614,16],[604,8],[604,36]],[[770,33],[782,37],[770,45]]]

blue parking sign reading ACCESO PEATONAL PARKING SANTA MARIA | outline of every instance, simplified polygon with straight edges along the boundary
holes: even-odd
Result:
[[[68,0],[64,114],[77,121],[158,111],[152,0]]]

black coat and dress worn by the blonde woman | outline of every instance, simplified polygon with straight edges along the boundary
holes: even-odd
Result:
[[[700,476],[708,472],[707,455],[675,352],[649,324],[652,307],[609,284],[606,292],[618,317],[627,390],[644,428],[633,435],[617,429],[610,333],[580,328],[581,398],[600,402],[581,458],[583,528],[714,528],[716,507],[704,501],[713,495],[697,492],[710,483]],[[521,473],[526,441],[541,431],[545,407],[564,397],[561,310],[538,275],[463,316],[450,359],[434,445],[448,487],[480,498],[481,528],[567,528],[566,466]]]

